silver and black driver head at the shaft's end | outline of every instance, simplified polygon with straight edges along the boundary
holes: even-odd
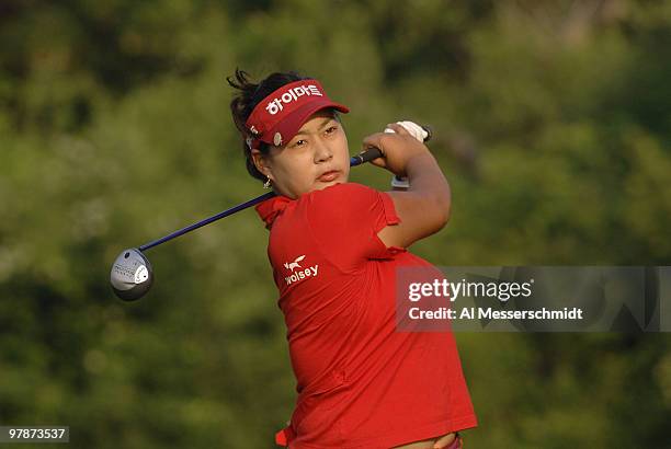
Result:
[[[134,247],[124,250],[110,273],[112,290],[124,301],[140,299],[153,283],[153,270],[145,255]]]

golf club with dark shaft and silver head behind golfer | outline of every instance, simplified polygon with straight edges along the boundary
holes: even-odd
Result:
[[[414,133],[414,137],[418,138],[418,140],[423,138],[423,141],[429,141],[432,137],[431,128],[429,128],[428,126],[421,126],[421,128],[423,130],[423,133],[420,131],[422,136],[420,137],[420,135]],[[382,156],[383,153],[379,149],[369,148],[361,152],[360,154],[352,157],[350,159],[350,166],[361,165]],[[110,284],[112,285],[112,290],[120,299],[124,301],[135,301],[140,299],[143,296],[145,296],[145,293],[147,293],[147,291],[149,291],[149,288],[151,288],[151,285],[153,283],[153,269],[151,267],[151,264],[149,263],[149,260],[144,254],[145,251],[153,246],[158,246],[161,243],[166,243],[172,239],[177,239],[178,237],[183,235],[186,232],[191,232],[195,229],[202,228],[205,225],[209,225],[213,221],[220,220],[221,218],[247,209],[248,207],[270,199],[275,195],[276,194],[274,192],[265,193],[253,199],[250,199],[249,202],[234,206],[230,209],[226,209],[215,216],[182,228],[158,240],[145,243],[144,245],[138,247],[130,247],[124,250],[116,257],[114,264],[112,264],[112,270],[110,273]]]

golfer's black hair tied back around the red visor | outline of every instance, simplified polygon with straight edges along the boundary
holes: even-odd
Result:
[[[265,175],[257,169],[257,165],[254,165],[254,161],[251,157],[251,149],[247,145],[247,138],[252,137],[251,133],[244,125],[247,119],[251,115],[254,107],[268,95],[285,84],[307,79],[310,78],[302,77],[295,71],[274,72],[269,74],[259,83],[253,83],[250,80],[249,73],[238,68],[236,69],[235,76],[226,78],[228,84],[238,90],[230,102],[230,113],[232,114],[236,128],[238,128],[240,135],[242,136],[242,151],[244,152],[247,171],[253,177],[265,181]],[[270,151],[270,146],[265,142],[260,142],[259,151],[261,151],[262,154],[268,154]]]

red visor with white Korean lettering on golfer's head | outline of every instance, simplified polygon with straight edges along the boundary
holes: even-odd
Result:
[[[275,147],[286,145],[312,114],[327,107],[350,112],[346,106],[332,102],[317,80],[285,84],[252,111],[246,125],[253,137],[247,139],[247,145],[250,148],[259,148],[259,141]]]

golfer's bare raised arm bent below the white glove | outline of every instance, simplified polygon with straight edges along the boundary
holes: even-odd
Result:
[[[376,134],[364,139],[385,154],[373,161],[397,175],[408,176],[406,192],[389,192],[401,222],[378,232],[387,246],[410,246],[416,241],[441,230],[450,219],[451,193],[435,158],[429,149],[411,137],[403,127],[389,125],[393,134]]]

